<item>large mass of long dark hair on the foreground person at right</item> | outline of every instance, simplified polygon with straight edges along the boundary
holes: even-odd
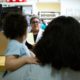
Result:
[[[33,52],[43,65],[80,70],[80,23],[70,16],[53,19]]]

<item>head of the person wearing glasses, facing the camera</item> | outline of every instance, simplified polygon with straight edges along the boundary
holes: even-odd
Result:
[[[40,20],[39,20],[38,17],[33,16],[30,19],[30,24],[31,24],[31,27],[32,27],[32,31],[33,32],[38,32],[39,31],[39,28],[40,28]]]

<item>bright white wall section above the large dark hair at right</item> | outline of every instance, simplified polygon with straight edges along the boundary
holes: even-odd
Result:
[[[80,18],[80,0],[61,0],[61,15]]]

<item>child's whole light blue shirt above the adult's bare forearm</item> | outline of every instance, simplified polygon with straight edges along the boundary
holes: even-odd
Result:
[[[17,40],[10,40],[5,52],[6,56],[17,55],[17,56],[30,56],[30,51],[27,46]]]

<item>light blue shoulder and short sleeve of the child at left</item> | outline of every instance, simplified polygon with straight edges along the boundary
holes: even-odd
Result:
[[[10,40],[5,51],[5,55],[20,55],[22,45],[16,40]]]

